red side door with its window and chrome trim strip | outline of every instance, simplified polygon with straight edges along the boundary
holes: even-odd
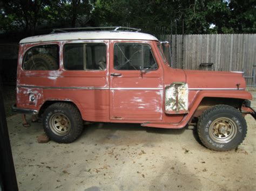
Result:
[[[110,119],[161,121],[163,68],[151,41],[110,41]]]

